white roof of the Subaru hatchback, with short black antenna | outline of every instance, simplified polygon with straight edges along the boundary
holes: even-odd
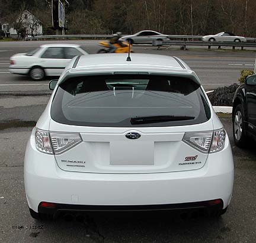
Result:
[[[132,61],[126,61],[127,56],[127,53],[81,56],[76,65],[73,66],[72,72],[79,72],[81,70],[85,72],[100,72],[104,70],[148,72],[158,70],[159,72],[191,73],[190,68],[177,57],[132,53],[130,54]]]

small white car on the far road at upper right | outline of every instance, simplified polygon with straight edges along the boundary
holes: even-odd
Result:
[[[215,35],[204,35],[202,37],[203,41],[217,41],[217,42],[246,42],[247,39],[242,36],[235,35],[229,32],[220,32]]]

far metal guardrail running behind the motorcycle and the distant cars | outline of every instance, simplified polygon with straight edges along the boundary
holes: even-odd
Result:
[[[126,35],[123,35],[126,36]],[[40,39],[50,39],[50,38],[110,38],[113,35],[39,35],[34,37],[26,37],[25,40],[40,40]],[[178,38],[178,39],[201,39],[203,35],[168,35],[169,38]],[[247,41],[256,41],[256,38],[246,38]]]

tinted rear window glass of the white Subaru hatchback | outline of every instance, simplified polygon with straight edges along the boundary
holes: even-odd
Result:
[[[185,77],[73,77],[57,89],[52,119],[92,127],[167,127],[206,122],[210,108],[200,86]]]

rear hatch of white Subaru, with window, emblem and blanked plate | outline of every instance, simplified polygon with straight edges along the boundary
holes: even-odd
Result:
[[[164,173],[197,170],[213,125],[198,84],[185,77],[98,76],[68,80],[51,108],[50,139],[62,170]],[[192,139],[192,140],[191,140]]]

